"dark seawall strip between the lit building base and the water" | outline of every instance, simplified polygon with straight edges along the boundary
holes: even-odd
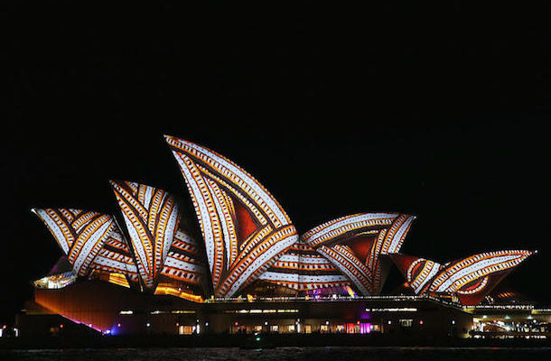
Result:
[[[275,348],[275,347],[551,347],[551,339],[420,338],[416,334],[142,335],[0,338],[0,350],[72,348]],[[2,358],[0,358],[2,360]]]

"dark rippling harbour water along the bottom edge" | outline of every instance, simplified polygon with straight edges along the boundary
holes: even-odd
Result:
[[[549,360],[551,347],[443,348],[443,347],[277,347],[240,348],[104,348],[0,351],[0,360],[171,361],[171,360]]]

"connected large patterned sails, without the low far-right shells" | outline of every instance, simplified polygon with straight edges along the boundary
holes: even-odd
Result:
[[[231,297],[257,279],[305,292],[354,294],[350,286],[364,295],[380,292],[386,277],[380,255],[399,250],[413,217],[347,216],[313,228],[299,242],[285,210],[247,171],[201,145],[170,136],[166,142],[190,190],[204,245],[179,229],[173,196],[135,182],[112,181],[129,241],[110,216],[75,209],[60,209],[59,215],[52,211],[48,217],[42,212],[79,274],[122,273],[129,283],[141,281],[146,291],[154,291],[157,282],[168,290],[180,286],[167,278],[187,285],[206,281],[205,259],[217,297]],[[72,228],[83,236],[78,238]]]

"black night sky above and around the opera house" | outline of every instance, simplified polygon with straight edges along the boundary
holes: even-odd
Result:
[[[61,255],[30,208],[119,217],[109,179],[190,201],[163,134],[237,162],[300,233],[388,210],[417,216],[406,254],[537,249],[508,280],[551,303],[548,3],[35,3],[11,9],[0,322]]]

